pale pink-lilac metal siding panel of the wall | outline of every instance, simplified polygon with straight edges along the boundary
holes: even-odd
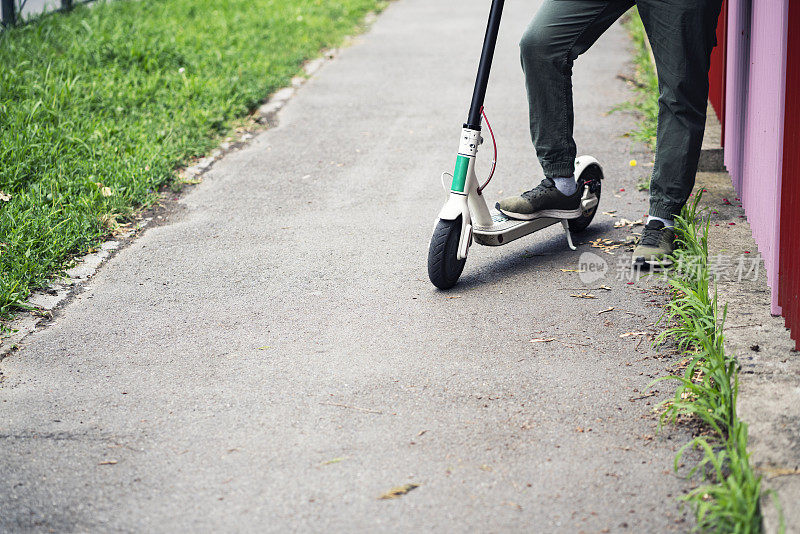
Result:
[[[778,306],[783,89],[789,0],[729,0],[725,165],[764,258]]]

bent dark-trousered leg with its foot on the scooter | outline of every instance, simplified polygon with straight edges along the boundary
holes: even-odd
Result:
[[[548,178],[575,172],[572,64],[633,0],[545,0],[520,41],[531,139]]]

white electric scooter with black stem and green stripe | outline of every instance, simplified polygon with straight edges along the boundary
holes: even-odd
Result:
[[[492,1],[472,104],[467,122],[461,130],[455,171],[452,175],[442,174],[443,185],[446,178],[450,179],[449,198],[439,212],[428,249],[428,277],[439,289],[450,289],[458,282],[473,239],[481,245],[500,246],[560,222],[566,232],[567,244],[575,250],[570,232],[585,230],[592,222],[600,202],[600,182],[603,179],[600,163],[591,156],[580,156],[575,160],[575,178],[578,187],[583,190],[578,209],[543,212],[546,216],[517,220],[497,210],[490,210],[486,205],[483,191],[494,176],[497,166],[497,143],[484,112],[483,102],[504,3],[505,0]],[[483,142],[481,126],[484,121],[494,144],[494,160],[489,178],[483,185],[479,185],[475,174],[475,158],[478,147]]]

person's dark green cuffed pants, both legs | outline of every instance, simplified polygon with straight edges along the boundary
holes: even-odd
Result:
[[[520,42],[531,137],[545,176],[574,173],[572,63],[636,4],[658,71],[650,214],[680,213],[694,187],[705,130],[708,68],[722,0],[544,0]],[[597,80],[610,83],[610,80]]]

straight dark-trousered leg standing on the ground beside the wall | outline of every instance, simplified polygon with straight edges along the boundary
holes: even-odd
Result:
[[[670,221],[694,187],[706,124],[708,69],[722,0],[638,0],[658,71],[650,215]]]

